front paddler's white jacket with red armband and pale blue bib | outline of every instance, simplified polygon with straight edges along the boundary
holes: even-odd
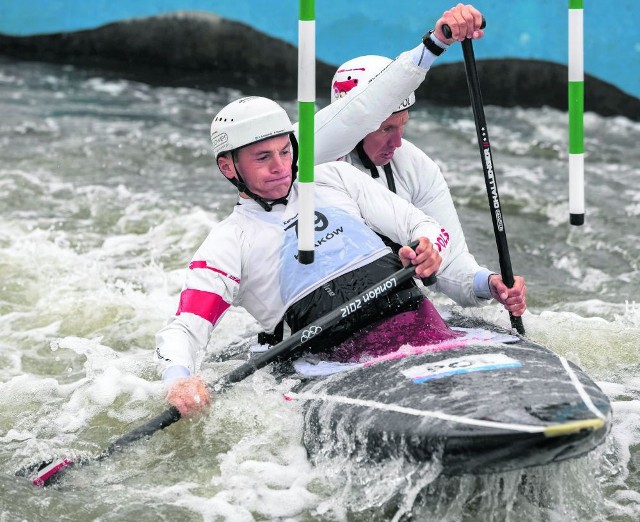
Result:
[[[194,373],[231,305],[246,309],[266,331],[273,330],[300,298],[389,254],[378,233],[403,245],[427,237],[446,262],[449,233],[353,166],[317,166],[315,180],[315,261],[303,265],[296,259],[297,182],[287,205],[275,205],[271,212],[241,199],[195,253],[177,315],[157,334],[156,358],[163,369],[181,366]]]

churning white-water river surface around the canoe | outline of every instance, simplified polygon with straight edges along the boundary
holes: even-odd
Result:
[[[314,466],[299,405],[283,399],[294,383],[265,368],[208,415],[71,470],[59,487],[34,491],[13,476],[56,455],[95,456],[166,408],[154,334],[175,313],[191,255],[235,202],[208,126],[238,96],[3,63],[0,520],[640,518],[640,125],[586,115],[587,222],[570,228],[566,115],[549,109],[486,113],[513,267],[529,286],[527,333],[583,367],[614,406],[597,452],[457,479],[437,462]],[[470,110],[418,109],[408,137],[441,165],[470,250],[497,268]],[[497,306],[469,313],[509,326]],[[216,354],[258,331],[229,309],[207,379],[238,364]]]

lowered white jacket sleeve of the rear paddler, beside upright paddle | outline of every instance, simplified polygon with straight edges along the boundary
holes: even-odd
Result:
[[[490,302],[473,291],[473,278],[480,266],[469,252],[449,186],[440,167],[422,150],[403,140],[403,154],[411,158],[405,169],[411,202],[425,214],[441,223],[451,236],[449,256],[438,273],[435,290],[444,293],[461,306],[482,306]]]

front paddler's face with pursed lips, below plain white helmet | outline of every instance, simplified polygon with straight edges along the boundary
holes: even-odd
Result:
[[[218,165],[227,178],[236,177],[237,167],[251,192],[271,200],[285,197],[289,192],[291,161],[291,141],[288,135],[283,135],[241,148],[235,166],[231,155],[221,156]]]

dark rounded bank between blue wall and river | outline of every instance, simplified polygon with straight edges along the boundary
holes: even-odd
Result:
[[[366,50],[363,50],[365,53]],[[71,64],[154,85],[295,99],[297,48],[213,14],[181,12],[108,24],[97,29],[29,37],[0,35],[0,55]],[[319,103],[335,66],[317,62]],[[478,60],[485,105],[549,106],[567,110],[567,67],[520,59]],[[434,66],[418,100],[469,105],[463,63]],[[322,103],[321,103],[322,104]],[[640,99],[585,76],[585,110],[640,121]]]

